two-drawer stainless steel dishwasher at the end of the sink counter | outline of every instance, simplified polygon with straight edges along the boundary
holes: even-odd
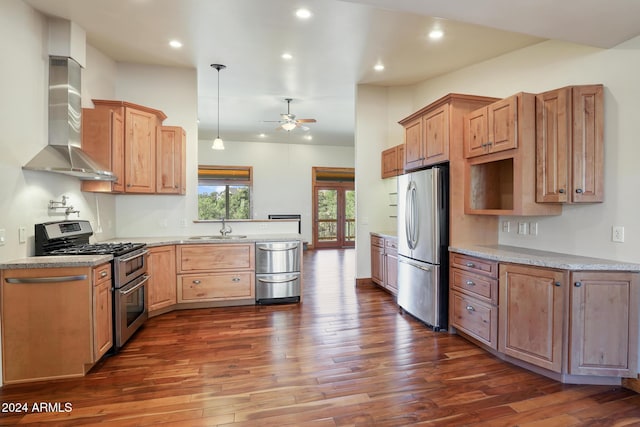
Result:
[[[302,242],[256,242],[256,303],[300,302]]]

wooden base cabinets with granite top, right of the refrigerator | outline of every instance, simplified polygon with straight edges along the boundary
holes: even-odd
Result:
[[[635,378],[640,265],[509,246],[450,249],[450,304],[460,305],[450,311],[454,331],[562,382]],[[487,282],[496,267],[497,295]],[[497,347],[482,321],[496,297]]]

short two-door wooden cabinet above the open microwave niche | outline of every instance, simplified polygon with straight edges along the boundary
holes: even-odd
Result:
[[[518,147],[519,98],[516,94],[465,115],[465,158]]]

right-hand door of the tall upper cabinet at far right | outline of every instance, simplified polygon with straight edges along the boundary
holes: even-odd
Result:
[[[573,88],[572,201],[602,202],[604,101],[601,85]]]

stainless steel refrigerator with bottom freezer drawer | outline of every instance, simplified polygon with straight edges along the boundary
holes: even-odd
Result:
[[[447,329],[449,168],[398,177],[398,305],[434,331]]]

